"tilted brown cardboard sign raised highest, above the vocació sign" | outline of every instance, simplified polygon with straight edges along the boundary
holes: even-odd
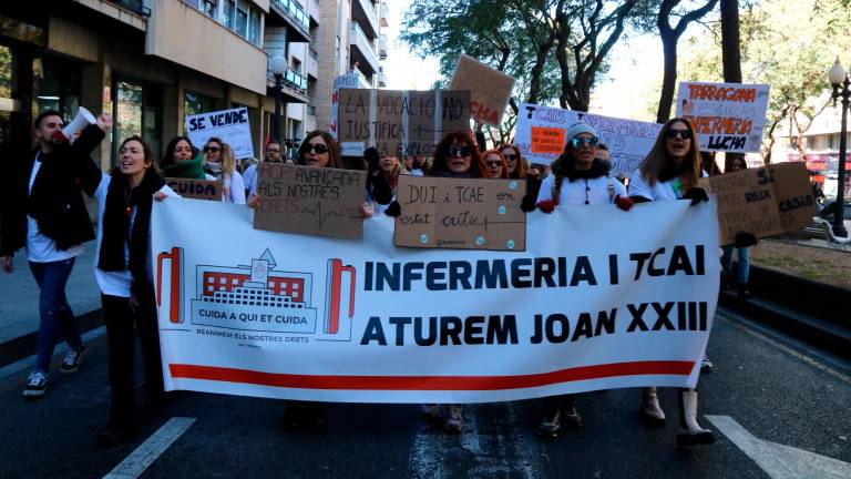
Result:
[[[470,118],[499,126],[514,89],[514,78],[461,53],[450,90],[470,90]]]

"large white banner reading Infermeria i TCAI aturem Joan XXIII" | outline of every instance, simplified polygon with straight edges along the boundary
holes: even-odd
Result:
[[[338,240],[255,231],[252,215],[155,202],[167,390],[476,402],[697,383],[714,202],[532,213],[523,253],[397,248],[387,216]]]

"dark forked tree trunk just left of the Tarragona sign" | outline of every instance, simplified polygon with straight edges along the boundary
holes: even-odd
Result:
[[[656,17],[656,27],[662,39],[662,50],[665,57],[665,73],[662,79],[659,108],[656,111],[656,123],[665,123],[670,118],[670,105],[674,100],[674,88],[677,83],[677,43],[689,23],[709,13],[718,0],[708,0],[703,7],[681,13],[676,27],[670,26],[670,17],[680,0],[663,0]]]

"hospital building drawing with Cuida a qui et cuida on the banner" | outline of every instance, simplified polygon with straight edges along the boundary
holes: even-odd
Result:
[[[316,333],[310,273],[275,271],[266,249],[250,266],[198,265],[192,324],[270,333]]]

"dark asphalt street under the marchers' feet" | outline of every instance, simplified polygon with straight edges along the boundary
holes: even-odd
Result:
[[[851,477],[851,365],[727,313],[709,342],[715,371],[699,385],[700,421],[718,441],[694,449],[676,447],[674,390],[660,393],[667,426],[648,429],[636,389],[580,396],[583,428],[556,440],[536,435],[540,400],[470,405],[452,436],[417,405],[331,404],[326,425],[286,431],[284,401],[181,391],[165,411],[142,415],[136,439],[102,448],[105,337],[89,349],[83,368],[54,373],[38,401],[21,398],[29,369],[6,368],[0,478]]]

